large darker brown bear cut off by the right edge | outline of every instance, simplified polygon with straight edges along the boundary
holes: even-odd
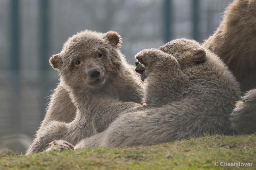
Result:
[[[204,42],[235,74],[242,91],[256,87],[256,0],[234,0],[217,31]],[[239,134],[256,131],[255,89],[237,102],[232,127]],[[250,100],[244,100],[250,96]]]

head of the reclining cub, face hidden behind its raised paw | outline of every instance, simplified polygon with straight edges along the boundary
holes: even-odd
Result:
[[[204,63],[206,60],[205,50],[195,40],[174,39],[160,46],[159,50],[174,56],[180,63],[181,69]]]

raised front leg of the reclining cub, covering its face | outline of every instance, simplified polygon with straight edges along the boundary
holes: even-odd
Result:
[[[164,105],[180,98],[185,75],[175,57],[158,49],[146,49],[135,58],[145,66],[144,74],[148,76],[145,80],[145,102],[149,106]]]

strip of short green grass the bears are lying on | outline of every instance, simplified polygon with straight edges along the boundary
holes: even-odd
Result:
[[[0,169],[247,169],[214,162],[252,163],[256,169],[256,134],[214,135],[161,145],[86,148],[17,155],[0,152]]]

